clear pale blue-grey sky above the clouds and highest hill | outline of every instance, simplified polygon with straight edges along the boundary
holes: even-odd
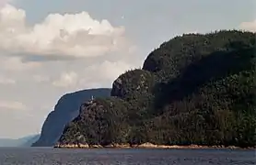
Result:
[[[26,9],[31,23],[49,13],[87,11],[91,17],[124,26],[145,53],[177,34],[239,28],[256,16],[255,0],[27,0],[18,6]]]

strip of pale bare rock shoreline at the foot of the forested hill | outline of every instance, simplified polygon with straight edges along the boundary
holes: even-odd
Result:
[[[129,145],[129,144],[111,144],[108,146],[101,145],[87,145],[87,144],[57,144],[53,148],[229,148],[229,149],[255,149],[251,148],[240,148],[237,146],[202,146],[202,145],[155,145],[152,143],[143,143],[141,145]]]

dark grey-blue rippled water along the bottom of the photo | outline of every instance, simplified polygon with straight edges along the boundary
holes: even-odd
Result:
[[[256,164],[243,149],[57,149],[0,148],[1,165],[171,165]]]

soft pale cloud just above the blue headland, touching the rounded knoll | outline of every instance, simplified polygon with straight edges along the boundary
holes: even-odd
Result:
[[[124,71],[128,71],[132,65],[125,61],[95,62],[88,64],[82,70],[64,71],[52,81],[52,85],[60,88],[79,90],[82,88],[111,87],[113,82]]]

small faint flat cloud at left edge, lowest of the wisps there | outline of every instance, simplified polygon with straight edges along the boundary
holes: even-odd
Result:
[[[18,110],[24,111],[28,110],[25,104],[17,101],[0,101],[0,110]]]

